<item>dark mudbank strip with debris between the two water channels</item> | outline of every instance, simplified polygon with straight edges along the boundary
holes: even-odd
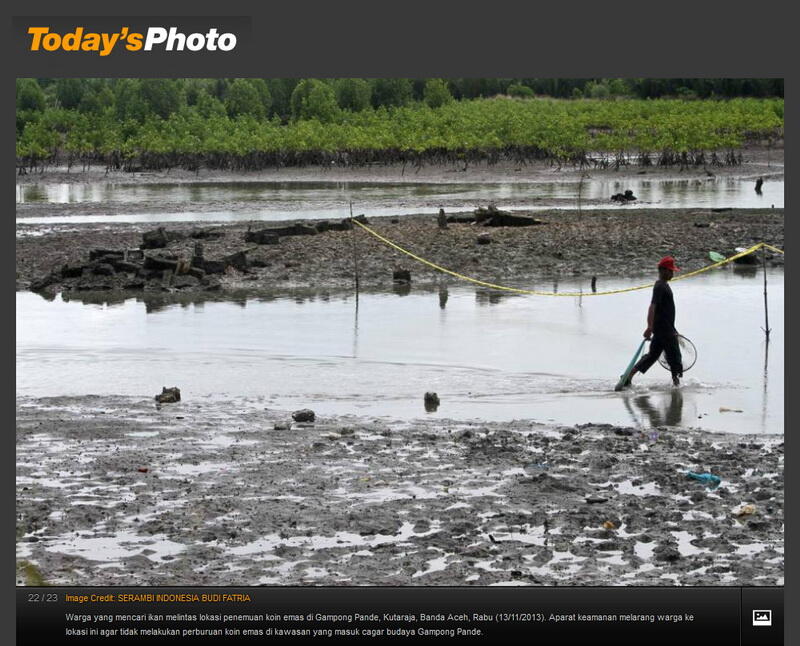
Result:
[[[551,288],[559,278],[576,277],[585,277],[588,287],[590,278],[597,276],[602,289],[604,277],[652,274],[655,261],[664,255],[675,256],[680,266],[690,271],[708,265],[708,252],[712,250],[727,255],[735,247],[749,247],[762,240],[782,248],[784,241],[783,209],[626,211],[621,207],[583,212],[537,211],[528,215],[543,224],[485,227],[450,223],[446,230],[439,230],[436,218],[428,215],[371,218],[369,222],[374,230],[400,246],[453,271],[511,286],[547,281]],[[288,224],[291,222],[203,227],[220,235],[202,240],[206,258],[220,259],[247,250],[247,267],[229,267],[214,276],[212,289],[352,289],[354,242],[359,282],[364,288],[391,288],[398,269],[411,272],[412,285],[456,280],[402,255],[362,230],[355,231],[356,235],[350,231],[325,231],[280,237],[278,244],[245,242],[248,226],[256,230]],[[190,236],[197,228],[191,223],[165,226],[183,239],[148,253],[190,259],[197,242]],[[142,234],[152,230],[153,225],[52,225],[45,231],[40,229],[17,225],[17,289],[29,289],[33,281],[50,272],[58,273],[65,264],[88,262],[94,248],[137,248]],[[37,232],[41,234],[34,235]],[[479,244],[481,234],[488,235],[488,244]],[[782,265],[783,257],[769,252],[767,261]],[[56,279],[49,292],[60,290],[61,282]],[[73,281],[67,288],[97,291],[116,284],[110,279],[90,279],[77,286]],[[160,280],[136,284],[140,293],[202,292],[209,288],[201,281],[186,281],[181,287],[165,286]]]

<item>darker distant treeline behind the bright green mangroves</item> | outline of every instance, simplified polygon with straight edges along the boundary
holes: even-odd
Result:
[[[167,118],[184,106],[231,118],[282,121],[320,116],[331,108],[358,112],[424,102],[516,97],[708,99],[783,97],[783,79],[18,79],[17,131],[47,108],[119,119]]]

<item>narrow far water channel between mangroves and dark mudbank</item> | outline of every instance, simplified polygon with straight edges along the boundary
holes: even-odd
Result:
[[[630,189],[635,208],[783,208],[782,179],[765,181],[762,194],[752,179],[600,179],[580,187],[581,207],[610,208],[615,193]],[[275,221],[341,219],[356,213],[372,216],[467,211],[494,203],[510,210],[578,206],[576,182],[376,183],[376,182],[196,182],[182,184],[17,184],[17,204],[86,204],[91,214],[17,218],[29,224],[96,222]],[[114,205],[98,214],[98,204]],[[203,205],[192,209],[192,205]],[[232,205],[235,205],[233,207]],[[121,208],[125,212],[119,213]],[[142,213],[142,211],[149,211]]]

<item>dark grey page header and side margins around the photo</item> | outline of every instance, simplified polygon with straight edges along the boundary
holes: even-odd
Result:
[[[9,7],[9,5],[5,5]],[[778,2],[702,3],[683,2],[528,2],[507,0],[469,3],[440,0],[434,2],[346,1],[302,3],[265,1],[112,3],[103,2],[25,2],[10,7],[3,38],[3,87],[8,93],[2,102],[3,122],[7,127],[3,149],[12,150],[14,95],[12,81],[17,77],[53,76],[257,76],[274,77],[783,77],[786,79],[788,130],[797,115],[793,101],[797,80],[796,20],[788,15],[787,5]],[[6,9],[9,10],[9,9]],[[68,15],[68,18],[64,16]],[[237,48],[216,54],[158,54],[119,52],[108,57],[79,53],[28,51],[28,21],[50,26],[76,22],[100,30],[103,25],[116,31],[123,26],[172,26],[183,31],[205,31],[209,26],[231,25],[237,33]],[[24,16],[16,21],[13,16]],[[208,18],[225,15],[227,18]],[[61,16],[62,18],[56,18]],[[92,18],[92,17],[95,18]],[[179,22],[176,16],[184,16]],[[203,18],[206,16],[206,18]],[[106,17],[100,19],[97,17]],[[80,18],[80,20],[77,20]],[[63,21],[63,22],[60,22]],[[796,154],[786,151],[787,166]],[[3,157],[11,180],[13,157]],[[11,194],[10,186],[8,195]],[[786,190],[797,193],[789,181]],[[794,237],[797,224],[786,220],[787,235]],[[14,264],[13,221],[7,217],[2,237],[0,261],[5,267],[0,276],[11,292]],[[787,262],[786,285],[794,284]],[[795,308],[788,299],[787,321]],[[14,513],[14,428],[12,422],[12,338],[14,321],[10,308],[2,317],[4,356],[2,374],[9,422],[3,433],[3,485],[0,487],[2,517]],[[776,322],[776,324],[778,324]],[[786,335],[786,348],[795,354],[797,341]],[[791,365],[791,358],[789,363]],[[795,392],[791,374],[786,391]],[[787,427],[796,414],[786,411]],[[787,607],[800,607],[797,562],[791,543],[797,536],[797,514],[792,491],[797,484],[798,440],[786,435],[789,455],[786,469]],[[9,523],[10,524],[10,523]],[[2,589],[3,633],[14,630],[15,589],[14,534],[6,525],[4,537]],[[487,590],[491,594],[491,590]],[[800,643],[800,622],[788,613],[786,643]],[[5,636],[5,635],[4,635]]]

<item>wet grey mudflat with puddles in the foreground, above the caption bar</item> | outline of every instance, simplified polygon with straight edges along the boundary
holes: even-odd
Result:
[[[783,583],[782,437],[266,403],[18,397],[18,584]]]

